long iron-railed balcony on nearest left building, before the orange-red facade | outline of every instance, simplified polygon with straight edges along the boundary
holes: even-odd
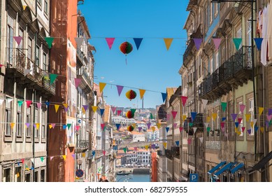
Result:
[[[31,70],[26,76],[25,69]],[[55,83],[50,84],[50,73],[34,64],[20,48],[6,48],[6,78],[30,89],[36,89],[45,96],[55,95]]]

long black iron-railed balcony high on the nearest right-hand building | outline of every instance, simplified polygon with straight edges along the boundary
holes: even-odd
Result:
[[[252,48],[243,46],[219,69],[203,79],[199,86],[199,97],[201,99],[218,99],[227,94],[232,87],[236,88],[248,80],[252,80]]]

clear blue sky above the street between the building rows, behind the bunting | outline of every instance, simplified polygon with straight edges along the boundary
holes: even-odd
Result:
[[[96,48],[94,82],[108,83],[103,90],[108,104],[141,107],[141,88],[146,90],[144,107],[155,108],[163,104],[160,92],[180,85],[178,70],[185,51],[187,3],[188,0],[88,0],[78,6],[90,29],[90,43]],[[109,50],[105,38],[111,37],[115,42]],[[143,38],[138,50],[133,38]],[[163,38],[173,38],[169,50]],[[134,47],[127,55],[127,64],[119,50],[124,41]],[[127,86],[120,97],[116,85]],[[125,97],[128,90],[137,93],[136,99],[129,101]]]

